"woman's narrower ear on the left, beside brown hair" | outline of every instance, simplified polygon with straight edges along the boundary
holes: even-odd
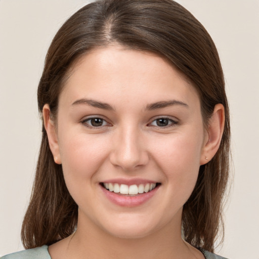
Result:
[[[50,110],[49,104],[44,105],[42,109],[42,115],[44,119],[45,130],[47,131],[47,135],[48,135],[50,149],[54,157],[54,161],[57,164],[61,164],[56,126],[54,121],[51,119],[51,110]]]

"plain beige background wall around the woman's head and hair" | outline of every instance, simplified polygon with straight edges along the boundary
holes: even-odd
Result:
[[[218,47],[232,113],[235,177],[218,252],[259,259],[259,1],[179,0]],[[0,255],[20,227],[37,159],[37,83],[51,39],[82,0],[0,0]]]

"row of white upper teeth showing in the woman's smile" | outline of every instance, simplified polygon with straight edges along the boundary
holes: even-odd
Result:
[[[137,195],[138,193],[150,192],[155,187],[156,184],[140,184],[139,186],[134,185],[125,185],[125,184],[112,184],[112,183],[104,183],[104,187],[110,192],[121,193],[121,194],[129,194],[129,195]]]

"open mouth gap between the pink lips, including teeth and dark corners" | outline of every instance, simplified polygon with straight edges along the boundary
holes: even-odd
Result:
[[[146,184],[134,184],[126,185],[119,183],[100,183],[100,185],[109,192],[116,193],[120,196],[139,196],[145,193],[149,193],[152,190],[158,188],[160,183],[146,183]]]

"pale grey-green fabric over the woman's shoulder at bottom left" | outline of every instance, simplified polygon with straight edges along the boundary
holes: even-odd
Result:
[[[51,259],[51,256],[48,251],[48,246],[44,245],[16,253],[10,253],[0,259]]]

